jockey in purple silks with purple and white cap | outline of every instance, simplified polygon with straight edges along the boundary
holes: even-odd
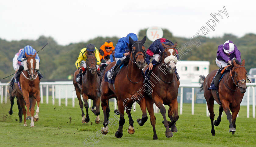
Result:
[[[215,76],[219,74],[224,67],[228,66],[228,63],[231,65],[231,60],[233,60],[234,58],[241,62],[241,53],[232,41],[228,40],[224,44],[219,45],[215,62],[220,69],[217,71]],[[213,79],[215,78],[215,76],[213,77]],[[208,90],[218,90],[218,88],[213,83],[213,79],[211,87],[209,87]]]

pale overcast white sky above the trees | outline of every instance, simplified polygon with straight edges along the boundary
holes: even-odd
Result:
[[[162,3],[160,3],[162,2]],[[60,45],[86,42],[97,36],[123,37],[159,26],[174,36],[191,38],[219,13],[215,31],[206,37],[256,33],[255,1],[151,0],[1,0],[0,38],[53,37]],[[224,11],[226,14],[219,12]],[[211,23],[210,23],[211,24]],[[212,23],[213,24],[213,23]],[[174,40],[175,41],[175,40]],[[1,45],[0,45],[1,46]]]

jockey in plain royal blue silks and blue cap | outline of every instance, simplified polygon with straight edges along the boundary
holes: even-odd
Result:
[[[108,78],[112,79],[114,78],[114,71],[118,67],[118,65],[126,58],[126,56],[129,56],[131,53],[131,49],[129,48],[129,37],[133,39],[133,41],[137,41],[138,37],[134,33],[129,33],[126,37],[122,37],[118,40],[118,43],[116,43],[115,47],[115,57],[116,57],[116,64],[114,68],[111,69],[109,72]]]

